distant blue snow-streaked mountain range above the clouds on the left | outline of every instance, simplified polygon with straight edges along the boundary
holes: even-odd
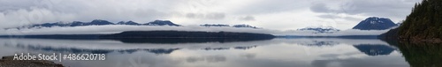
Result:
[[[114,24],[107,20],[102,19],[94,19],[90,22],[80,22],[80,21],[73,21],[71,23],[65,23],[65,22],[57,22],[57,23],[43,23],[43,24],[34,24],[30,26],[20,26],[16,27],[18,29],[20,28],[40,28],[40,27],[53,27],[53,26],[105,26],[105,25],[129,25],[129,26],[179,26],[177,24],[172,23],[169,20],[155,20],[146,24],[139,24],[133,21],[120,21],[117,24]],[[5,28],[10,29],[10,28]]]

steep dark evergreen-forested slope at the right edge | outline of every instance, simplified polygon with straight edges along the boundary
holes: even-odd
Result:
[[[414,42],[442,42],[442,0],[415,4],[407,19],[380,37]]]

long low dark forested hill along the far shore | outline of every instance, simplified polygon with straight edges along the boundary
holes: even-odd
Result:
[[[128,31],[120,34],[100,35],[99,38],[274,38],[271,34],[232,32],[187,32],[187,31]]]

